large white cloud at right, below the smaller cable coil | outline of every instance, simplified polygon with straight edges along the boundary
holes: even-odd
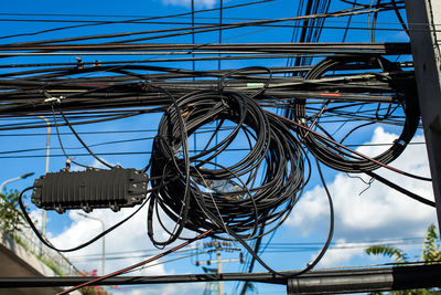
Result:
[[[391,143],[395,138],[397,135],[377,128],[368,144]],[[416,136],[412,141],[421,143],[424,139],[422,136]],[[375,146],[365,146],[358,151],[378,155],[379,149]],[[424,145],[409,146],[390,165],[415,175],[429,176]],[[433,200],[431,182],[407,178],[385,168],[376,172],[410,191]],[[365,181],[369,179],[366,176],[359,176]],[[421,204],[378,181],[374,181],[368,187],[362,180],[340,172],[331,183],[326,185],[335,209],[334,238],[340,243],[354,240],[422,236],[427,226],[437,220],[433,208]],[[359,196],[361,192],[363,193]],[[329,204],[322,187],[316,186],[304,193],[287,224],[300,229],[304,235],[327,231],[327,225],[324,224],[329,224]],[[362,252],[363,249],[331,250],[326,253],[323,264],[331,266],[333,263],[344,263]]]

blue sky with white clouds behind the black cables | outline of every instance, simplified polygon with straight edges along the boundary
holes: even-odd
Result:
[[[224,1],[224,6],[241,3],[241,1]],[[218,7],[218,1],[203,0],[195,1],[196,9],[209,9]],[[340,1],[332,1],[331,11],[347,8]],[[8,2],[3,8],[3,12],[8,13],[56,13],[56,14],[98,14],[98,15],[165,15],[189,12],[191,9],[190,1],[180,0],[155,0],[155,1],[131,1],[123,2],[112,1],[20,1]],[[224,22],[234,22],[241,19],[268,19],[268,18],[288,18],[293,17],[295,13],[295,1],[292,0],[277,0],[269,3],[251,6],[246,8],[238,8],[224,11]],[[1,15],[1,19],[7,19]],[[12,17],[8,17],[12,18]],[[14,17],[15,19],[42,19],[41,17],[25,15]],[[47,17],[47,19],[57,19],[58,17]],[[88,17],[69,17],[69,19],[88,19]],[[212,21],[213,18],[218,18],[218,12],[209,12],[196,14],[196,22]],[[108,20],[111,18],[99,18],[100,20]],[[190,21],[190,18],[181,18],[179,20]],[[327,25],[342,25],[346,19],[331,19],[326,22]],[[370,21],[372,15],[363,15],[354,18],[354,27],[365,28]],[[381,14],[378,20],[378,27],[383,28],[398,28],[397,20],[391,13]],[[57,25],[67,25],[57,23],[41,23],[41,22],[0,22],[0,35],[12,35],[17,33],[36,32]],[[89,27],[87,29],[74,29],[57,31],[47,34],[40,34],[35,36],[25,36],[17,39],[1,40],[2,43],[8,42],[22,42],[29,40],[42,40],[61,36],[87,35],[105,32],[125,32],[133,30],[151,30],[159,28],[153,24],[133,24],[133,25],[103,25]],[[163,28],[163,27],[161,27]],[[229,30],[223,32],[223,42],[290,42],[291,29],[240,29]],[[342,30],[324,30],[321,41],[323,42],[340,42],[342,40]],[[196,35],[196,43],[211,43],[217,42],[218,34],[205,33]],[[369,36],[367,30],[353,30],[348,32],[347,42],[368,42]],[[377,33],[377,41],[407,41],[404,32],[399,31],[380,31]],[[171,43],[190,43],[192,39],[190,35],[171,38],[161,40],[160,42]],[[75,62],[76,55],[72,56],[55,56],[55,57],[14,57],[14,63],[28,62]],[[82,56],[84,61],[94,61],[96,56]],[[126,56],[127,57],[127,56]],[[129,56],[130,57],[130,56]],[[99,56],[100,61],[112,60],[115,56]],[[395,59],[395,56],[392,57]],[[409,60],[409,56],[401,56],[401,60]],[[12,59],[0,60],[0,64],[11,63]],[[223,61],[222,69],[239,69],[249,65],[263,65],[263,66],[284,66],[286,59],[275,60],[252,60],[252,61]],[[175,66],[191,69],[192,64],[186,63],[152,63],[162,66]],[[197,62],[196,70],[217,69],[217,62]],[[7,72],[8,70],[1,70]],[[39,118],[29,118],[30,120],[44,122]],[[83,139],[92,145],[95,152],[112,152],[117,151],[150,151],[151,140],[139,140],[130,144],[112,144],[99,145],[106,141],[125,140],[133,138],[147,138],[155,135],[155,128],[160,115],[142,115],[130,119],[116,120],[110,123],[99,123],[93,125],[82,125],[75,129],[82,133]],[[9,118],[1,118],[2,124],[17,124],[20,120],[12,120]],[[349,128],[349,126],[347,126]],[[132,133],[121,133],[123,130],[133,130]],[[71,152],[85,152],[84,149],[73,149],[80,147],[79,143],[74,138],[67,128],[61,127],[63,144],[69,148]],[[99,131],[112,131],[111,134],[97,134]],[[29,130],[0,130],[1,148],[0,165],[3,169],[0,170],[0,181],[10,179],[25,172],[35,172],[35,177],[44,173],[45,162],[45,128],[29,129]],[[353,143],[358,144],[383,144],[391,143],[399,133],[399,129],[390,126],[373,126],[357,133],[351,139]],[[14,135],[14,136],[11,136]],[[19,136],[17,136],[19,135]],[[422,143],[423,137],[421,133],[413,139],[415,143]],[[95,146],[94,145],[98,145]],[[17,149],[41,148],[41,150],[32,154],[4,154]],[[377,147],[362,147],[361,151],[367,155],[375,155],[378,152]],[[51,136],[51,155],[61,155],[60,144],[55,136],[55,129],[52,128]],[[37,155],[39,157],[30,158],[6,158],[8,156],[20,155]],[[104,156],[110,164],[119,164],[126,168],[141,169],[149,160],[149,155],[136,156]],[[97,166],[97,161],[92,157],[78,157],[76,160]],[[58,171],[65,166],[65,158],[51,157],[50,171]],[[398,167],[409,172],[417,175],[428,176],[428,162],[424,146],[417,144],[409,146],[406,152],[394,162],[394,167]],[[74,167],[75,168],[75,167]],[[334,247],[332,247],[325,255],[320,267],[336,267],[344,265],[362,265],[384,262],[385,260],[368,257],[363,253],[363,245],[369,244],[373,241],[388,240],[405,241],[407,238],[422,238],[424,230],[431,222],[435,222],[434,210],[427,208],[415,201],[408,200],[406,197],[400,196],[394,191],[388,190],[380,183],[374,182],[367,189],[367,185],[359,179],[352,178],[342,172],[336,172],[325,168],[325,179],[330,187],[331,194],[335,202],[336,211],[336,228],[334,236]],[[420,193],[421,196],[431,198],[430,183],[421,183],[416,180],[405,179],[390,171],[380,171],[381,175],[387,176],[394,181],[401,183],[408,189]],[[22,190],[25,187],[32,186],[35,177],[32,179],[17,181],[11,183],[9,189]],[[368,179],[364,177],[365,181]],[[363,193],[362,193],[363,192]],[[32,208],[32,207],[31,207]],[[313,177],[306,187],[301,201],[298,203],[286,224],[277,231],[271,242],[280,245],[281,243],[320,243],[324,242],[329,229],[327,204],[323,188],[316,177]],[[32,208],[34,210],[34,208]],[[92,215],[100,218],[106,221],[109,226],[117,220],[122,219],[131,212],[131,209],[122,210],[119,213],[112,213],[110,210],[95,210]],[[34,217],[39,217],[41,211],[33,212]],[[137,255],[142,254],[142,251],[152,251],[153,246],[146,234],[146,212],[135,218],[128,224],[106,236],[106,251],[108,253],[118,253],[115,256],[128,256],[126,253],[130,251]],[[75,212],[69,212],[60,215],[54,212],[49,212],[47,231],[56,245],[62,247],[72,246],[87,240],[88,238],[99,233],[100,225],[98,222],[85,220],[78,217]],[[161,235],[162,233],[158,233]],[[271,235],[267,238],[266,241]],[[198,245],[202,246],[202,245]],[[268,246],[268,251],[261,254],[261,257],[277,270],[291,270],[302,268],[310,262],[319,252],[315,247],[306,247],[306,250],[292,252],[277,252],[276,247]],[[420,244],[404,243],[404,246],[418,255]],[[125,253],[120,253],[125,252]],[[76,265],[82,270],[93,270],[100,267],[99,259],[90,256],[100,253],[100,242],[79,251],[78,253],[69,254]],[[109,254],[110,255],[110,254]],[[133,254],[135,255],[135,254]],[[182,254],[183,255],[183,254]],[[176,257],[176,256],[173,256]],[[237,259],[238,252],[223,253],[225,259]],[[200,254],[197,257],[182,259],[176,262],[170,262],[143,270],[141,274],[180,274],[180,273],[201,273],[202,268],[194,265],[195,260],[214,259],[213,254]],[[132,257],[125,260],[109,260],[106,263],[106,271],[116,271],[120,267],[127,266],[135,262],[142,260],[142,257]],[[241,266],[238,263],[228,263],[224,265],[224,272],[236,272]],[[256,271],[262,271],[257,265]],[[226,283],[225,292],[227,294],[234,293],[236,287],[235,283]],[[168,286],[143,286],[143,287],[123,287],[121,292],[116,294],[202,294],[204,288],[203,284],[192,285],[168,285]],[[284,294],[284,286],[263,285],[257,284],[258,294]]]

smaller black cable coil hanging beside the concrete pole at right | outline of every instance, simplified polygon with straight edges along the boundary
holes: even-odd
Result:
[[[394,113],[395,108],[392,109],[391,105],[396,104],[396,107],[401,106],[404,108],[404,113],[406,115],[406,122],[404,123],[404,127],[401,130],[401,134],[398,139],[396,139],[391,146],[380,155],[377,155],[375,157],[372,157],[370,159],[368,158],[363,158],[357,155],[347,152],[342,150],[338,145],[335,145],[335,143],[331,143],[330,140],[326,140],[324,138],[321,138],[320,136],[315,135],[314,133],[311,133],[308,130],[308,128],[312,128],[313,126],[316,126],[319,129],[321,129],[327,138],[332,138],[332,136],[323,129],[322,126],[316,122],[318,117],[320,116],[316,115],[315,117],[309,117],[305,113],[305,99],[298,99],[294,106],[294,118],[295,120],[301,124],[302,126],[306,128],[299,128],[299,134],[301,138],[303,138],[303,141],[308,149],[321,162],[327,165],[329,167],[345,171],[345,172],[366,172],[366,171],[372,171],[375,170],[381,165],[386,165],[395,160],[401,152],[405,150],[407,144],[410,141],[410,139],[413,137],[418,124],[419,124],[419,107],[418,107],[418,102],[417,97],[415,97],[415,94],[412,92],[411,85],[401,85],[401,84],[395,84],[394,81],[391,80],[390,75],[394,75],[394,73],[399,73],[401,70],[394,63],[389,62],[388,60],[380,57],[380,56],[365,56],[365,55],[353,55],[353,56],[333,56],[333,57],[326,57],[320,63],[318,63],[305,76],[305,80],[316,80],[322,77],[326,72],[335,71],[338,70],[345,65],[348,64],[358,64],[362,66],[366,66],[368,69],[379,69],[381,72],[390,72],[389,75],[384,75],[383,73],[373,73],[378,77],[379,81],[386,80],[387,85],[392,88],[394,97],[396,98],[396,102],[390,102],[390,105],[388,107],[388,114],[386,114],[384,117],[378,116],[376,114],[376,117],[372,119],[372,122],[367,124],[363,124],[354,128],[353,130],[364,127],[366,125],[375,124],[378,122],[381,122],[383,119],[386,119],[388,116],[390,116],[391,113]],[[363,86],[357,85],[357,89],[359,92],[365,91]],[[373,92],[373,89],[367,89],[369,92]],[[381,92],[381,89],[377,89],[377,92]],[[327,101],[325,104],[330,103],[331,101]],[[325,107],[325,105],[324,105]],[[326,112],[326,109],[323,107],[323,113]],[[379,104],[378,108],[379,109]],[[313,122],[311,125],[310,123]],[[353,131],[352,130],[352,131]],[[352,133],[349,131],[346,137]],[[345,138],[346,138],[345,137]],[[345,139],[343,138],[343,140]],[[342,140],[342,141],[343,141]]]

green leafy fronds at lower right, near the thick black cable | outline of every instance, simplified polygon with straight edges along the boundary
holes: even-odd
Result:
[[[424,264],[439,263],[441,261],[441,251],[438,241],[437,228],[434,224],[430,224],[427,232],[424,242],[422,243],[421,250],[421,261]],[[395,262],[407,262],[407,254],[391,245],[373,245],[365,249],[365,252],[368,255],[383,255],[387,257],[394,257]],[[372,295],[380,295],[381,292],[370,293]],[[402,291],[392,291],[389,293],[390,295],[441,295],[441,292],[435,288],[419,288],[419,289],[402,289]]]

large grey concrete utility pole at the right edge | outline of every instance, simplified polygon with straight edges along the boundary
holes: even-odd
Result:
[[[405,0],[418,97],[441,231],[440,0]]]

